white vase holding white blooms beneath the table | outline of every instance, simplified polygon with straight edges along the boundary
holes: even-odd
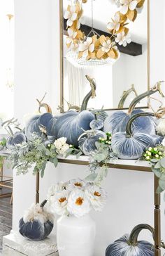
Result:
[[[62,216],[57,220],[59,256],[93,256],[96,224],[89,216]]]

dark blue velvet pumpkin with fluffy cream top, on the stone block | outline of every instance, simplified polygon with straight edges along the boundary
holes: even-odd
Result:
[[[19,222],[19,232],[22,236],[33,241],[45,239],[53,228],[53,217],[43,209],[47,200],[41,205],[32,205]]]

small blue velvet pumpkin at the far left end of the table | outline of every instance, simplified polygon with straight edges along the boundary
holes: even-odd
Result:
[[[13,148],[17,144],[27,141],[27,136],[23,132],[15,132],[13,136],[8,136],[6,140],[6,148]]]

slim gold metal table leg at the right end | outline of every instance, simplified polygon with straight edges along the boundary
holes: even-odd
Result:
[[[157,193],[159,179],[155,176],[155,256],[161,256],[161,196]]]

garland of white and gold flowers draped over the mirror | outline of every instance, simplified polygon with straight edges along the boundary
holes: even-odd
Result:
[[[138,9],[143,7],[145,0],[120,0],[117,6],[120,10],[115,13],[114,17],[107,25],[109,37],[94,34],[92,37],[85,37],[85,33],[80,30],[80,24],[83,23],[82,3],[87,1],[76,0],[74,4],[69,5],[64,13],[67,19],[66,46],[71,51],[78,51],[78,58],[90,59],[117,59],[119,52],[117,44],[127,46],[131,43],[129,21],[134,22],[137,17]]]

